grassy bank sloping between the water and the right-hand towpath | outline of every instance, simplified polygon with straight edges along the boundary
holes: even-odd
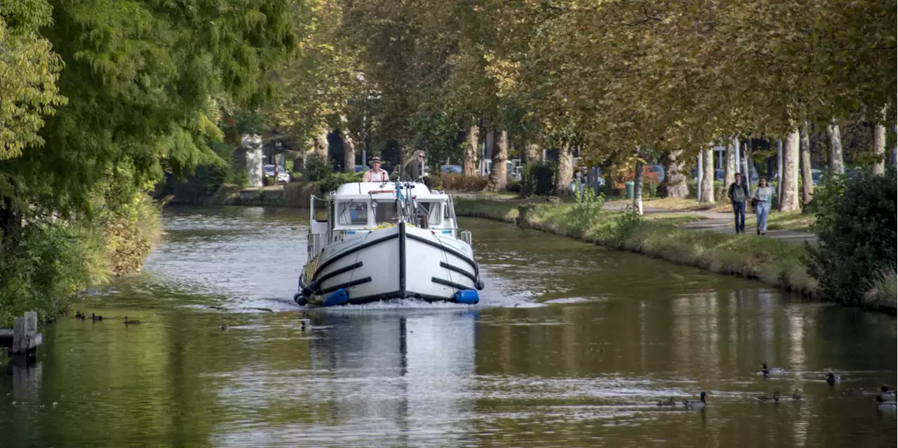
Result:
[[[818,294],[817,282],[806,273],[803,246],[751,235],[675,227],[697,219],[693,215],[637,218],[629,213],[589,210],[576,204],[463,198],[456,201],[456,212],[516,223],[718,274],[757,278],[799,294]]]

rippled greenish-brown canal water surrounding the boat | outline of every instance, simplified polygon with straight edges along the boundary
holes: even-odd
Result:
[[[307,219],[166,210],[143,272],[76,301],[103,321],[64,318],[37,365],[4,365],[0,446],[898,444],[898,416],[851,393],[898,385],[887,316],[471,219],[480,305],[318,310],[303,330]],[[704,411],[656,406],[701,391]],[[803,400],[754,398],[774,391]]]

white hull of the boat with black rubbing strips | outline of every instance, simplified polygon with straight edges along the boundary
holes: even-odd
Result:
[[[313,306],[396,298],[476,303],[471,292],[482,286],[467,242],[450,231],[401,225],[330,244],[304,268],[296,300]]]

